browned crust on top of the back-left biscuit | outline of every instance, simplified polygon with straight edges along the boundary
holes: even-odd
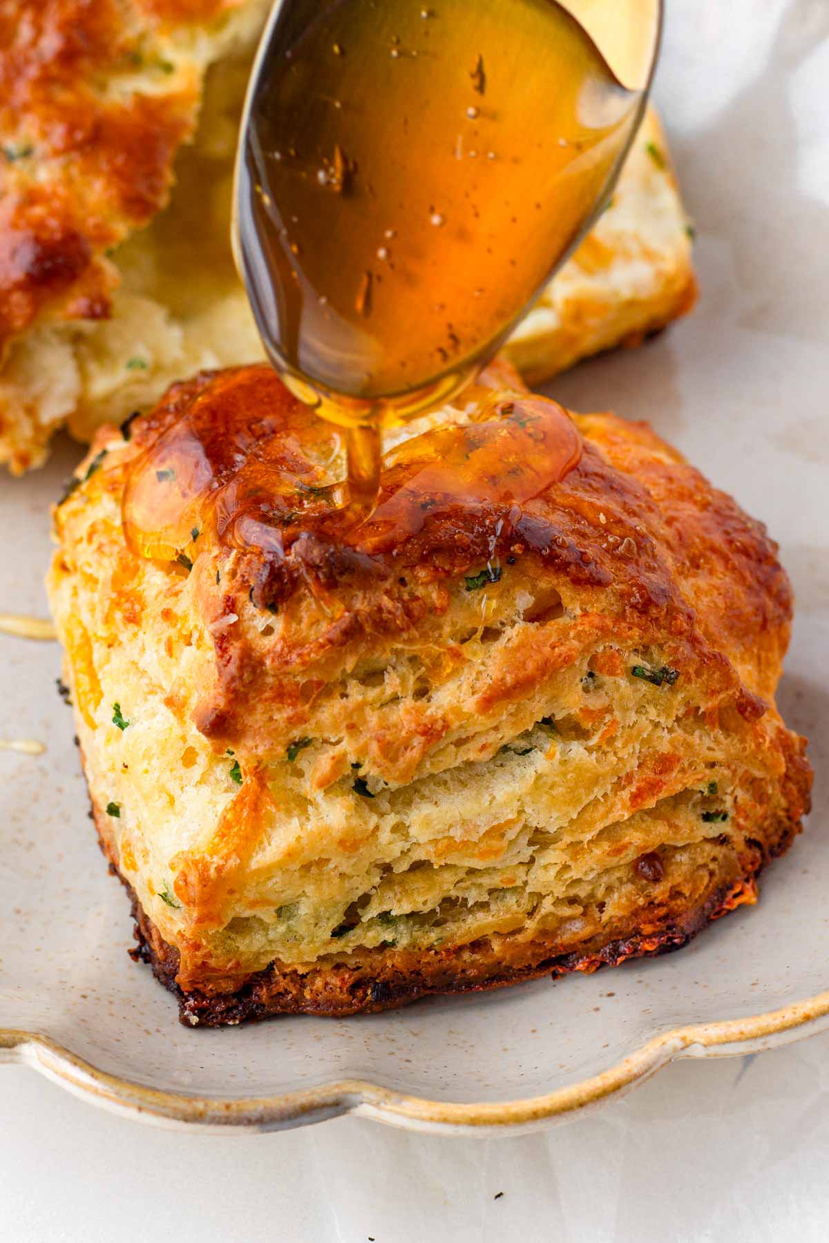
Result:
[[[97,319],[106,251],[165,204],[200,71],[170,41],[245,0],[10,0],[0,7],[0,351],[41,312]]]

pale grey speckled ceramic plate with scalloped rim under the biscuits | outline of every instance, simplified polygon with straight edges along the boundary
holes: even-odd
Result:
[[[343,1021],[179,1027],[131,962],[131,921],[87,819],[53,644],[0,636],[0,1057],[133,1116],[275,1127],[355,1110],[452,1129],[528,1126],[676,1055],[829,1027],[829,6],[669,0],[657,99],[697,230],[694,316],[551,389],[650,419],[781,541],[798,617],[781,707],[818,772],[805,834],[759,904],[680,953]],[[47,505],[77,457],[0,482],[0,612],[45,613]],[[722,602],[723,609],[728,602]],[[5,1050],[5,1053],[4,1053]]]

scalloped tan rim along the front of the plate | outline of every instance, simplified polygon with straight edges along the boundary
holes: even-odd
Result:
[[[643,1083],[676,1058],[758,1053],[829,1030],[829,992],[748,1018],[696,1023],[654,1037],[608,1070],[544,1096],[461,1104],[409,1096],[359,1079],[344,1079],[276,1096],[220,1100],[160,1091],[107,1074],[51,1037],[0,1028],[0,1063],[31,1066],[93,1105],[138,1121],[213,1134],[276,1131],[357,1114],[393,1126],[444,1134],[529,1131],[562,1121]]]

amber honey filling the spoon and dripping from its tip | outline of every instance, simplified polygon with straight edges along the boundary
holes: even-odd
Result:
[[[553,0],[277,7],[236,170],[271,362],[347,433],[352,525],[378,429],[497,349],[603,204],[644,106]]]

